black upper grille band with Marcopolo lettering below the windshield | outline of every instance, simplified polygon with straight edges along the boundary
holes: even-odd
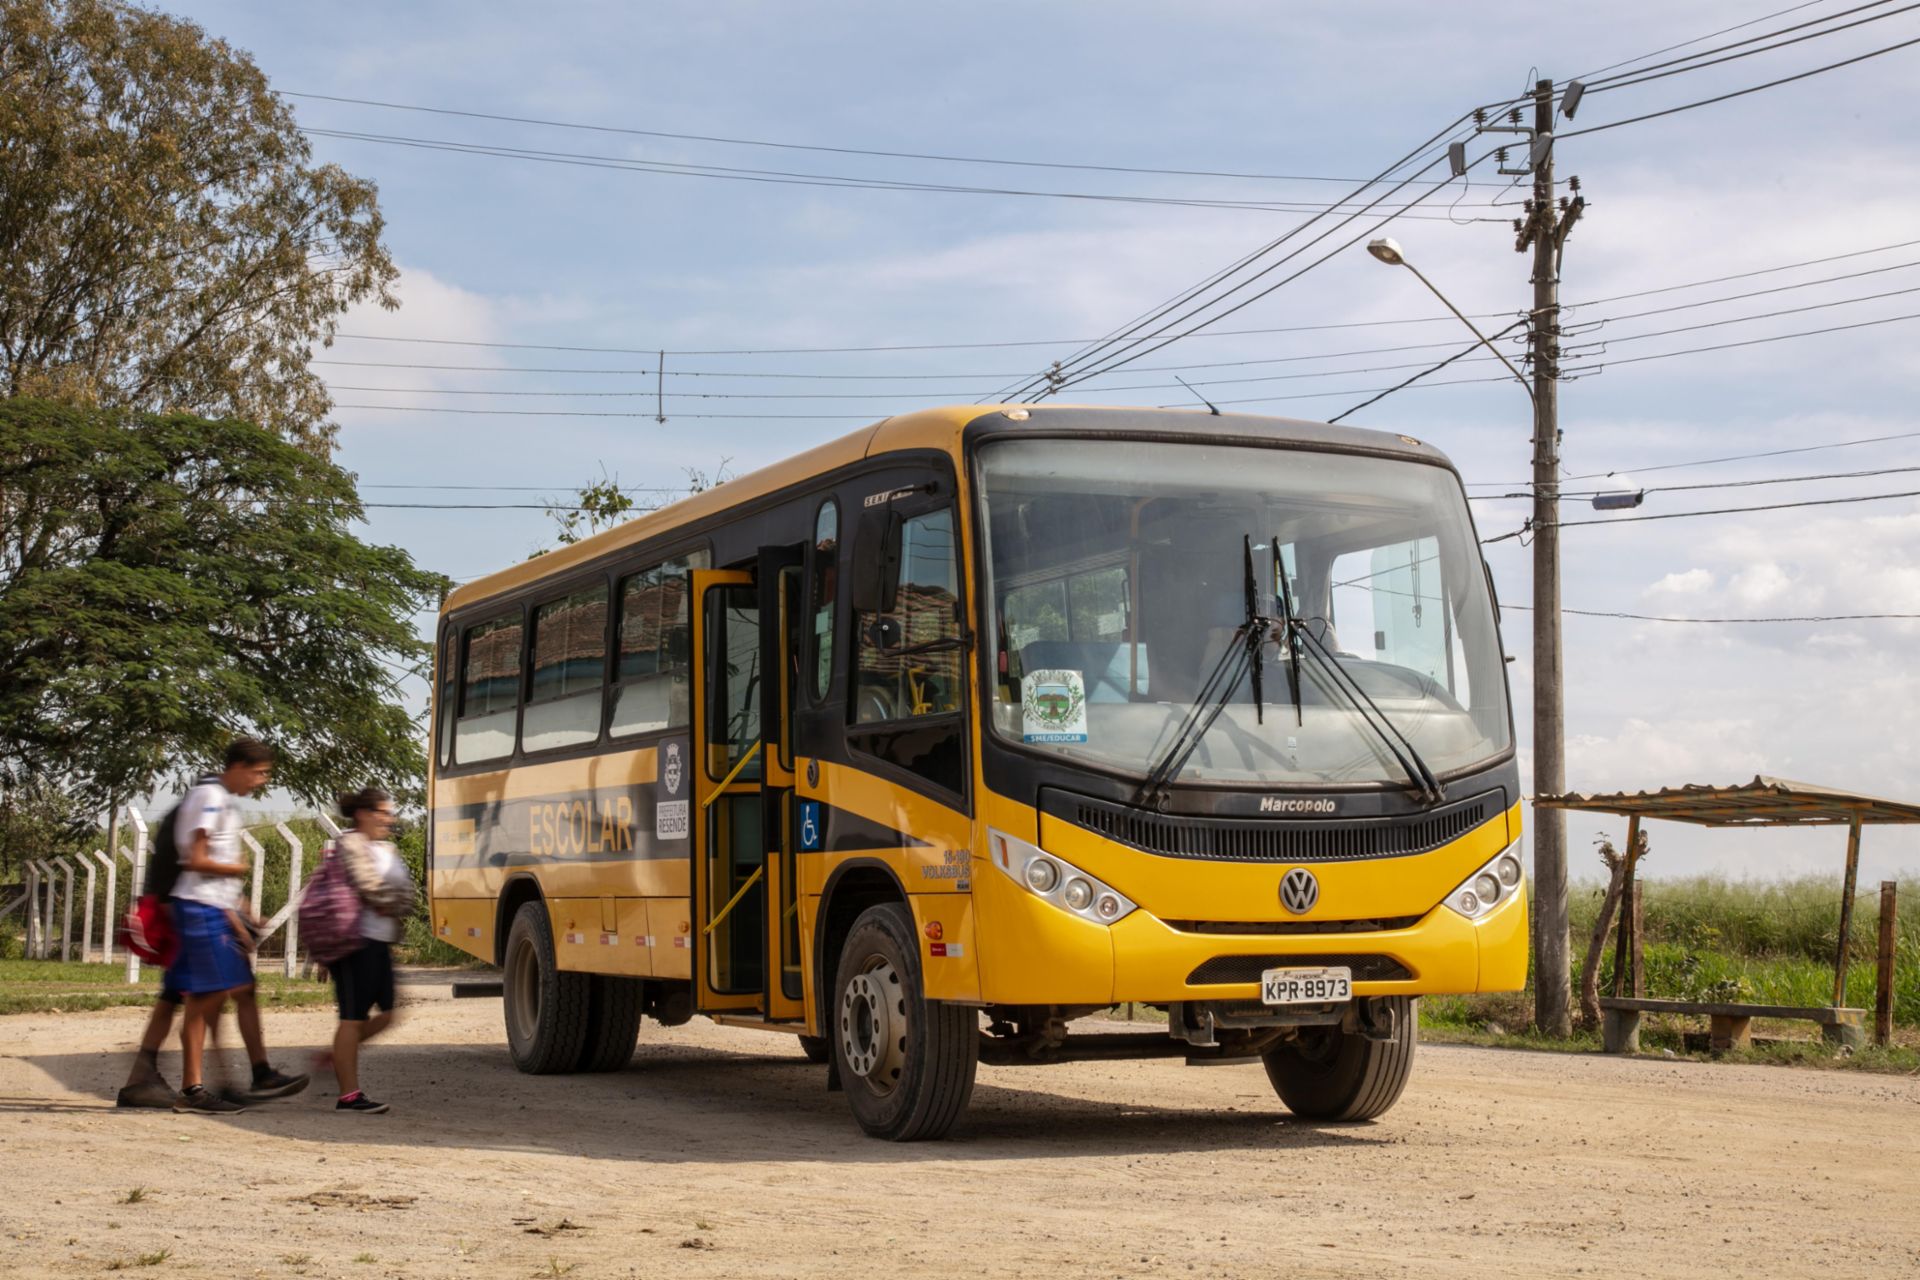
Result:
[[[1359,862],[1407,858],[1467,835],[1498,808],[1486,793],[1407,818],[1194,818],[1044,791],[1041,808],[1110,841],[1164,858],[1215,862]]]

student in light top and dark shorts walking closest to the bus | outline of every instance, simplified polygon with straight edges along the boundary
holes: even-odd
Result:
[[[359,1086],[359,1046],[394,1025],[394,942],[413,912],[413,877],[388,841],[394,798],[378,787],[340,796],[340,814],[351,823],[334,842],[334,858],[359,898],[359,946],[328,961],[340,1027],[334,1031],[332,1067],[340,1080],[336,1111],[380,1115],[388,1107]],[[372,1009],[378,1007],[380,1013]]]

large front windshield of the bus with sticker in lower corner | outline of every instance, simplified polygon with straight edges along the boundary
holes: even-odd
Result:
[[[1509,747],[1480,549],[1442,466],[1002,439],[981,449],[977,487],[1002,741],[1142,777],[1236,643],[1252,547],[1258,612],[1283,616],[1290,595],[1323,652],[1265,643],[1258,702],[1254,670],[1215,689],[1225,706],[1175,785],[1405,785],[1340,674],[1442,777]]]

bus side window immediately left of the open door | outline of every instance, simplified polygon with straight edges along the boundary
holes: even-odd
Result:
[[[620,581],[620,651],[614,666],[612,733],[628,737],[691,723],[693,624],[687,574],[707,568],[693,551]]]

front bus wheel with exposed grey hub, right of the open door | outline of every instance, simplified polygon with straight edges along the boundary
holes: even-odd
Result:
[[[852,1117],[872,1138],[945,1138],[973,1096],[979,1015],[925,998],[914,917],[900,902],[852,923],[833,977],[829,1042]]]

